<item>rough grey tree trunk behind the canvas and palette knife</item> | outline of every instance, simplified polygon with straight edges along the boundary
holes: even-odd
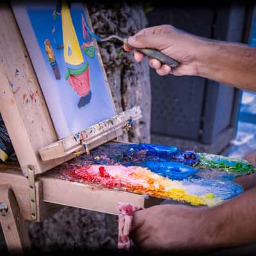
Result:
[[[141,4],[93,4],[90,8],[93,29],[100,37],[133,35],[147,25]],[[147,61],[136,63],[132,52],[125,52],[122,42],[100,42],[100,54],[118,113],[141,106],[143,118],[133,125],[124,140],[150,142],[151,92]]]

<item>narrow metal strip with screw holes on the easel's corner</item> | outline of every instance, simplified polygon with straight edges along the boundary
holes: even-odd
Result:
[[[35,188],[35,167],[31,164],[28,165],[28,184],[30,195],[30,211],[31,219],[36,220],[36,188]]]

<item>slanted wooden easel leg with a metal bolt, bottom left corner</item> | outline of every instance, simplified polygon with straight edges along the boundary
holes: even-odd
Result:
[[[6,205],[7,211],[3,209]],[[10,186],[0,186],[0,209],[0,222],[10,255],[29,253],[28,230]]]

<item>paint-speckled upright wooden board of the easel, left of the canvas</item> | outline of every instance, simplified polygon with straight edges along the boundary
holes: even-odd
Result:
[[[40,90],[28,52],[10,6],[0,8],[0,112],[27,175],[28,164],[35,174],[61,164],[72,155],[43,162],[38,150],[57,141],[51,116]]]

